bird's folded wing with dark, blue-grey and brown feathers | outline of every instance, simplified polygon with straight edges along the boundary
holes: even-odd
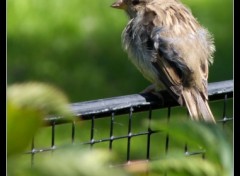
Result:
[[[156,27],[153,29],[151,40],[158,53],[156,58],[152,60],[152,65],[158,71],[159,79],[182,105],[181,93],[183,83],[188,83],[188,79],[191,78],[191,70],[184,60],[181,59],[178,51],[161,37],[161,28]]]

